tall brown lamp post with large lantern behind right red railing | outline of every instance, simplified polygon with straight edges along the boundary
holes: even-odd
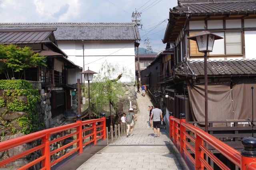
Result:
[[[205,131],[208,133],[208,81],[207,81],[207,53],[212,52],[214,40],[222,37],[212,34],[206,30],[188,37],[189,40],[196,41],[198,51],[204,53],[204,109],[205,109]]]

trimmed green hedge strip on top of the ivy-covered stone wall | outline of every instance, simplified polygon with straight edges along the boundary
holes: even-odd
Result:
[[[32,89],[26,80],[0,80],[0,89]]]

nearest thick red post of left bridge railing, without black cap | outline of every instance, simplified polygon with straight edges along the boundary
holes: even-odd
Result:
[[[42,144],[44,144],[44,148],[42,148],[42,156],[45,156],[45,159],[42,160],[42,168],[45,168],[46,170],[51,169],[51,163],[50,163],[50,133],[47,133],[42,138]]]

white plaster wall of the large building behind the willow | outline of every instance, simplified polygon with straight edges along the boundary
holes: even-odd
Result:
[[[68,55],[68,59],[83,67],[82,42],[58,42],[58,46]],[[132,77],[135,78],[134,42],[84,42],[85,69],[89,67],[90,70],[98,72],[105,61],[113,65],[118,63],[120,69],[126,67],[131,70]],[[122,77],[120,80],[131,81],[127,77]]]

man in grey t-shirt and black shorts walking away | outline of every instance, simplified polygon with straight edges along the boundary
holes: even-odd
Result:
[[[159,138],[160,125],[161,125],[161,121],[163,121],[163,115],[162,115],[162,110],[158,109],[158,106],[155,106],[155,109],[152,110],[150,121],[153,121],[153,127],[155,132],[154,137]],[[157,128],[157,134],[156,134],[156,128]]]

